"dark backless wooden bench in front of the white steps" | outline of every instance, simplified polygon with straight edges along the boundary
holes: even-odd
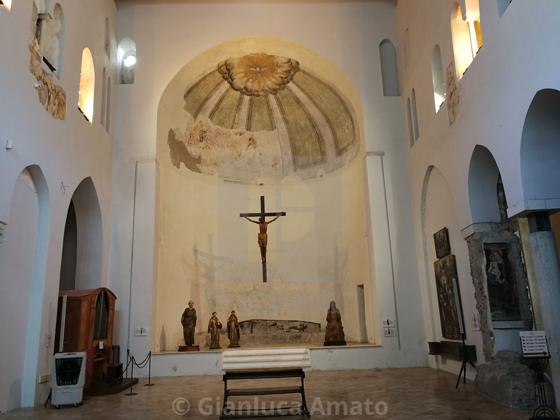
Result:
[[[227,381],[240,379],[283,379],[290,377],[301,377],[301,386],[275,386],[273,388],[239,388],[228,389]],[[223,375],[223,407],[220,420],[228,418],[254,418],[254,417],[277,417],[296,415],[291,413],[293,409],[297,409],[297,416],[310,417],[311,414],[307,410],[305,402],[304,389],[305,372],[301,367],[270,367],[270,368],[254,368],[254,369],[227,369]],[[301,394],[301,405],[299,407],[281,407],[274,408],[268,413],[263,413],[258,407],[248,409],[246,414],[230,410],[227,407],[228,397],[243,395],[278,395],[278,394]],[[284,413],[282,413],[284,412]]]

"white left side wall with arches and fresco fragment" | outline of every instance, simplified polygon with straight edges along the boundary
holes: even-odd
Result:
[[[51,3],[50,7],[54,7],[54,2]],[[111,76],[114,74],[104,52],[105,17],[109,17],[112,25],[114,51],[116,8],[110,0],[60,0],[59,3],[64,12],[66,35],[62,78],[55,82],[67,95],[64,121],[52,118],[40,104],[34,88],[35,77],[29,72],[31,0],[13,2],[10,13],[0,11],[0,55],[3,57],[0,69],[0,220],[10,226],[14,217],[10,213],[12,190],[18,174],[28,165],[39,165],[43,170],[45,191],[48,187],[51,206],[45,232],[45,238],[48,238],[46,275],[39,279],[41,284],[36,293],[34,290],[26,303],[10,315],[13,319],[25,319],[30,311],[41,319],[40,325],[28,329],[27,348],[12,348],[10,352],[2,353],[4,357],[20,352],[26,354],[26,374],[21,378],[24,384],[21,404],[24,406],[44,402],[49,392],[48,383],[36,384],[38,375],[51,371],[54,338],[49,347],[45,347],[45,333],[54,335],[55,330],[60,258],[69,200],[74,189],[87,176],[91,176],[94,182],[101,209],[104,232],[100,268],[102,284],[106,284],[108,272],[112,139],[101,126],[99,114],[103,67],[108,68]],[[77,109],[82,50],[86,46],[94,57],[97,80],[92,123],[86,122]],[[13,141],[13,148],[9,151],[4,146],[8,139]],[[66,194],[62,194],[61,182],[67,185]],[[10,235],[13,235],[13,241],[23,240],[16,231]],[[20,255],[23,263],[33,264],[24,261],[24,256]],[[2,275],[0,284],[6,281]],[[10,337],[4,336],[3,340],[10,342]],[[0,394],[4,394],[4,385],[0,386]],[[0,410],[3,412],[6,407],[0,405]]]

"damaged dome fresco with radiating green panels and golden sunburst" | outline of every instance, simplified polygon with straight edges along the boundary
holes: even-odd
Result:
[[[295,58],[228,57],[185,86],[186,127],[170,127],[171,163],[239,183],[342,167],[359,150],[352,106]]]

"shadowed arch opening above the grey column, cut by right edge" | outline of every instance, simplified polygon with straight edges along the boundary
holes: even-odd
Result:
[[[521,132],[521,184],[525,200],[560,199],[560,91],[536,92]]]

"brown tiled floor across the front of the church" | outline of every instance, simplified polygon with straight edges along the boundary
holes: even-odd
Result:
[[[432,368],[312,371],[306,372],[305,391],[311,418],[325,420],[525,420],[531,417],[529,411],[506,408],[478,395],[472,381],[461,384],[459,389],[455,389],[455,381],[455,375]],[[134,396],[124,395],[123,392],[94,397],[84,401],[78,408],[66,406],[56,409],[41,405],[0,414],[0,420],[218,418],[223,399],[221,376],[156,377],[153,382],[153,386],[143,386],[147,380],[141,379],[139,385],[134,387],[134,392],[138,393]],[[235,382],[235,388],[241,388],[249,385],[250,381]],[[298,383],[296,379],[280,379],[273,386]],[[253,380],[253,384],[250,384],[251,388],[271,385],[263,380]],[[259,396],[258,407],[263,408],[265,404],[264,408],[269,409],[271,401],[274,407],[281,407],[278,404],[283,400],[290,407],[292,402],[297,402],[297,396],[276,395],[272,399]],[[253,396],[232,399],[235,407],[239,407],[241,398],[254,407]],[[190,409],[185,412],[187,404]],[[241,408],[246,410],[247,407],[244,405]]]

